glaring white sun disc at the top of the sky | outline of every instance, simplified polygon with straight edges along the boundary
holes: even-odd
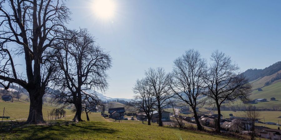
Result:
[[[95,0],[94,11],[95,14],[103,19],[113,17],[115,11],[115,3],[112,0]]]

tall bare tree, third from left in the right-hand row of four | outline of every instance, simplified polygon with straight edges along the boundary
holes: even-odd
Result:
[[[199,122],[196,108],[205,102],[203,92],[205,82],[203,74],[206,71],[206,61],[197,50],[190,49],[174,61],[171,89],[174,98],[182,100],[191,107],[198,130],[203,130]],[[201,99],[201,100],[200,100]]]

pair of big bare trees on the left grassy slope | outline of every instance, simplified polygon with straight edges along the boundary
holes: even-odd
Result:
[[[81,112],[101,103],[95,91],[108,88],[108,52],[87,29],[67,27],[71,12],[64,0],[1,0],[0,15],[0,85],[28,92],[27,123],[44,123],[46,94],[52,103],[73,105],[73,121],[83,121]],[[17,57],[24,63],[17,64]]]

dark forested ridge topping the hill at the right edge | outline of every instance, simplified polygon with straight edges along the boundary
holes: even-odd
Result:
[[[249,81],[254,81],[256,79],[272,75],[281,70],[281,61],[274,63],[273,65],[264,69],[248,69],[243,74],[249,79]]]

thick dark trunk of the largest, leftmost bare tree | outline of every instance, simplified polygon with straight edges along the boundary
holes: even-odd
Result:
[[[39,91],[29,92],[30,106],[27,124],[45,123],[42,114],[42,95]]]

